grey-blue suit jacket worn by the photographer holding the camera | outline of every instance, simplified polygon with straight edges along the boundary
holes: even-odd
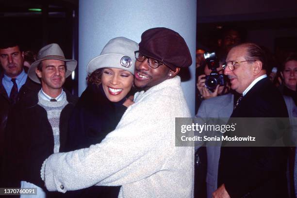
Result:
[[[233,94],[226,94],[210,99],[203,100],[196,117],[230,117],[233,111]],[[195,147],[195,150],[198,147]],[[217,171],[220,159],[220,147],[206,147],[207,152],[207,175],[206,189],[207,198],[212,198],[212,193],[217,189]]]

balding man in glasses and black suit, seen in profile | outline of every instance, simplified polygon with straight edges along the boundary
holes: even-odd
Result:
[[[253,43],[233,47],[224,64],[231,88],[242,94],[231,117],[288,117],[281,93],[266,75],[264,51]],[[288,149],[222,147],[214,198],[285,198]]]

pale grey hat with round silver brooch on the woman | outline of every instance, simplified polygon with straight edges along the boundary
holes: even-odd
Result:
[[[116,37],[108,41],[99,56],[87,65],[87,73],[91,74],[99,68],[112,67],[124,69],[134,74],[135,55],[138,43],[125,37]]]

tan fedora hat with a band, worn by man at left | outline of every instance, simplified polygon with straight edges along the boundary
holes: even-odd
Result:
[[[35,61],[31,65],[31,67],[28,71],[28,76],[32,81],[40,83],[40,80],[37,77],[35,70],[36,70],[38,64],[40,63],[40,61],[47,60],[47,59],[56,59],[56,60],[60,60],[60,61],[65,61],[66,67],[67,67],[66,74],[65,74],[66,78],[72,73],[72,71],[74,71],[74,69],[77,66],[76,60],[66,59],[60,46],[56,43],[52,43],[52,44],[49,44],[49,45],[41,48],[38,51],[37,61]]]

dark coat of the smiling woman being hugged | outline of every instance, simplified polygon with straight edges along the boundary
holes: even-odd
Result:
[[[69,120],[67,143],[63,152],[88,148],[112,132],[126,111],[123,102],[107,99],[102,85],[89,85],[77,102]],[[120,159],[119,159],[120,160]],[[92,186],[69,192],[70,197],[117,198],[120,186]],[[67,193],[66,193],[67,194]]]

